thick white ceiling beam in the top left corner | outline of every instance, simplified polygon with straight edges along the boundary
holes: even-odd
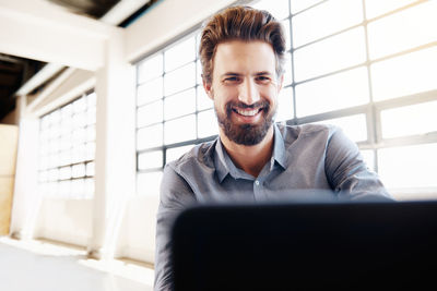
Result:
[[[42,0],[0,0],[0,52],[93,71],[117,29]]]

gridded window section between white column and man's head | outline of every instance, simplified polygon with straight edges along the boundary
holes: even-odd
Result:
[[[217,134],[213,105],[202,86],[198,34],[138,64],[137,192],[141,195],[157,195],[164,165]]]

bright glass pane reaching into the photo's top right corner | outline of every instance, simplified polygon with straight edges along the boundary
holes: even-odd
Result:
[[[428,1],[369,23],[370,59],[436,41],[436,15],[437,1]]]

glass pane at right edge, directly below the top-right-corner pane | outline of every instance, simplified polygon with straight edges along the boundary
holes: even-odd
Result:
[[[408,53],[370,66],[375,100],[437,88],[437,47]]]

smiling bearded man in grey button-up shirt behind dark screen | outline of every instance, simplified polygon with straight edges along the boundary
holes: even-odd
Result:
[[[155,290],[172,290],[169,231],[188,205],[302,199],[315,193],[323,199],[390,199],[339,129],[274,123],[284,53],[281,24],[267,11],[234,7],[206,22],[200,44],[202,77],[220,135],[164,169]]]

